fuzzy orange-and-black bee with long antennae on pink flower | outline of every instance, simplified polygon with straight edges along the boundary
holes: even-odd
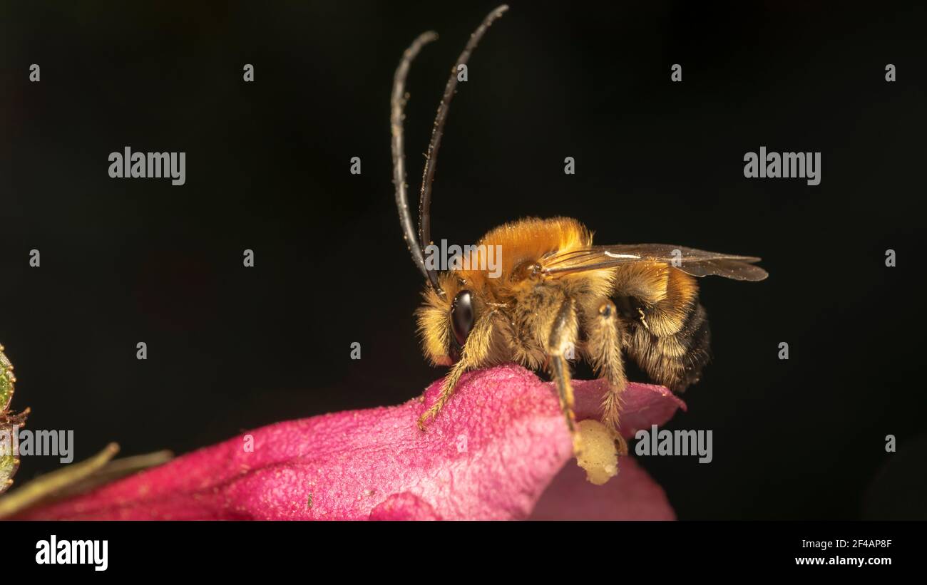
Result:
[[[405,182],[404,87],[414,57],[437,38],[434,32],[415,39],[393,79],[396,204],[405,242],[426,280],[424,304],[416,311],[418,331],[431,363],[451,367],[438,400],[419,418],[418,426],[425,430],[438,416],[464,372],[515,362],[549,371],[578,449],[569,360],[581,357],[608,382],[602,421],[618,442],[619,453],[627,454],[627,443],[618,432],[621,395],[628,385],[625,357],[655,382],[682,392],[699,380],[709,357],[710,332],[696,278],[764,280],[768,275],[755,266],[760,258],[753,256],[661,243],[595,245],[592,232],[572,218],[524,218],[490,230],[476,246],[468,247],[462,269],[438,271],[433,262],[426,262],[423,249],[431,243],[435,163],[457,87],[455,72],[506,9],[499,6],[490,12],[470,36],[445,86],[425,155],[417,234]],[[486,266],[483,255],[490,248],[502,251],[501,270],[493,274],[478,268]]]

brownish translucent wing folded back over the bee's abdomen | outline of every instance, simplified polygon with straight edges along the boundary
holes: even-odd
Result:
[[[590,246],[553,253],[541,260],[544,274],[569,274],[598,268],[612,268],[634,262],[662,262],[692,276],[722,276],[733,280],[763,280],[768,273],[754,266],[760,258],[707,252],[669,243],[629,243]]]

